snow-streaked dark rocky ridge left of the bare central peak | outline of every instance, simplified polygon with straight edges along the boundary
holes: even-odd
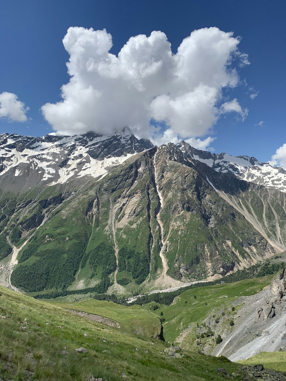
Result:
[[[106,136],[94,132],[74,136],[51,133],[35,138],[3,133],[0,179],[22,176],[18,184],[30,189],[41,181],[54,185],[84,176],[102,178],[113,166],[152,147],[149,140],[137,139],[127,127]]]

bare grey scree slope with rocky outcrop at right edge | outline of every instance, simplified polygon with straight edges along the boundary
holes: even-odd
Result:
[[[234,328],[224,331],[223,341],[212,355],[231,361],[247,359],[259,352],[286,351],[286,272],[282,269],[268,289],[236,300],[243,307],[234,317]]]

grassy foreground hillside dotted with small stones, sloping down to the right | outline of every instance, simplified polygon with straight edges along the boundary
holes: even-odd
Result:
[[[188,351],[182,359],[175,359],[161,352],[166,347],[162,341],[125,335],[122,328],[95,323],[3,287],[0,294],[0,314],[6,318],[0,319],[2,380],[81,381],[93,375],[115,381],[125,373],[130,381],[202,381],[222,379],[217,367],[239,373],[235,363]],[[75,352],[79,347],[88,352]],[[242,374],[235,377],[242,378]]]

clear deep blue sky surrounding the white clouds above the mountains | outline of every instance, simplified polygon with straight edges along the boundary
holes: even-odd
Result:
[[[248,115],[243,121],[241,113],[227,112],[213,123],[210,133],[195,137],[216,138],[210,144],[215,152],[253,155],[268,161],[286,142],[285,14],[285,2],[275,0],[169,4],[4,0],[0,2],[0,94],[16,94],[29,111],[24,122],[8,121],[5,115],[0,118],[0,133],[42,136],[53,131],[40,108],[47,102],[60,102],[60,88],[69,82],[66,67],[69,54],[62,39],[71,26],[106,28],[112,35],[110,52],[115,55],[130,37],[138,34],[148,37],[153,30],[165,33],[175,54],[193,30],[217,27],[233,32],[233,37],[241,36],[239,51],[248,54],[250,64],[235,66],[240,82],[235,88],[222,89],[224,101],[238,99],[241,109],[248,109]],[[257,92],[251,99],[250,95]]]

